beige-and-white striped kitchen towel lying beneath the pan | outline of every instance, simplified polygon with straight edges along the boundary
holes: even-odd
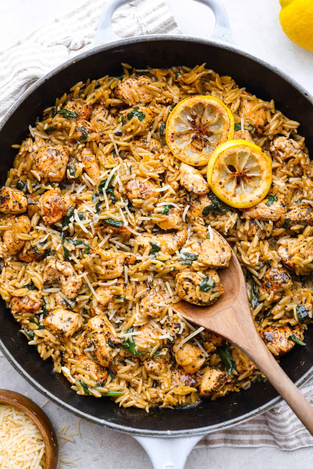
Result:
[[[56,18],[34,30],[8,50],[0,51],[2,85],[0,119],[13,102],[38,78],[62,62],[92,47],[99,15],[105,6],[105,0],[86,1],[68,15]],[[115,32],[121,37],[180,33],[175,19],[163,0],[133,1],[119,8],[113,16],[112,24]],[[5,379],[11,374],[8,370],[15,371],[5,357],[1,356],[0,360],[2,362],[0,378],[2,376]],[[5,366],[3,366],[4,362],[6,362]],[[16,378],[15,389],[23,390],[24,393],[27,391],[33,393],[31,385],[20,376]],[[313,401],[313,378],[302,387],[302,392],[310,401]],[[224,400],[221,399],[219,404],[225,405]],[[229,430],[216,431],[208,435],[198,443],[197,447],[275,446],[283,450],[291,450],[312,445],[313,438],[287,404],[282,402],[262,416]]]

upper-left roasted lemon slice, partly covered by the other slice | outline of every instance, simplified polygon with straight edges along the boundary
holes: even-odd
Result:
[[[220,99],[191,96],[180,101],[168,116],[168,148],[184,163],[204,166],[217,145],[234,137],[234,117]]]

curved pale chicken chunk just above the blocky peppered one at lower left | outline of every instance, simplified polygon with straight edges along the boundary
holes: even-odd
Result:
[[[44,269],[44,282],[54,283],[59,281],[62,292],[69,298],[75,298],[82,286],[82,280],[78,278],[72,264],[58,259],[50,259]]]

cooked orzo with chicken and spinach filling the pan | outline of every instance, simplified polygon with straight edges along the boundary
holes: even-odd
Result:
[[[122,67],[121,76],[74,84],[13,145],[0,193],[0,294],[73,391],[148,412],[265,379],[234,345],[172,309],[223,294],[218,269],[230,250],[220,234],[242,265],[269,350],[279,357],[304,345],[313,170],[299,123],[230,76],[205,64]],[[191,96],[168,135],[171,111]],[[232,139],[258,145],[272,166],[269,192],[249,208],[222,202],[196,158]],[[227,171],[240,190],[235,163]]]

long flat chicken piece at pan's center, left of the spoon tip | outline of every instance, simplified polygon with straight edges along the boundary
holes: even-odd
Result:
[[[187,230],[183,229],[176,233],[165,233],[165,234],[141,234],[137,236],[136,242],[140,249],[146,250],[147,248],[152,249],[153,244],[160,247],[162,252],[167,254],[174,254],[179,251],[187,239]]]

